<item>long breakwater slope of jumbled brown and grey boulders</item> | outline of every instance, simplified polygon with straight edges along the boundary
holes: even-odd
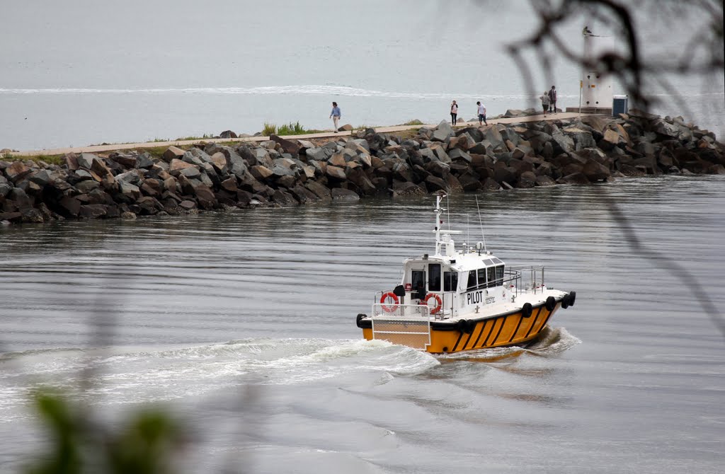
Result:
[[[373,129],[326,143],[270,138],[188,150],[171,146],[161,157],[115,151],[68,154],[62,165],[0,160],[0,222],[179,215],[661,173],[725,174],[725,147],[713,133],[680,117],[636,110],[616,118],[456,130],[441,122],[410,138]]]

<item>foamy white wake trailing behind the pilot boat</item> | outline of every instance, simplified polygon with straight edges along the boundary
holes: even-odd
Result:
[[[224,387],[294,385],[367,370],[415,375],[439,362],[386,341],[250,338],[163,349],[44,349],[0,354],[0,412],[18,408],[35,388],[57,388],[102,404],[159,402]],[[81,389],[80,386],[85,386]]]

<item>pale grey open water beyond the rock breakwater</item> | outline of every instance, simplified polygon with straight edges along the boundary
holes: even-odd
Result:
[[[265,122],[325,129],[331,101],[355,126],[447,120],[452,100],[466,120],[478,100],[498,115],[537,106],[552,84],[560,107],[579,104],[581,74],[566,61],[544,72],[540,55],[526,55],[527,91],[505,54],[537,25],[524,1],[30,0],[1,18],[0,149],[255,133]],[[673,30],[707,19],[639,20],[651,58],[682,51]],[[557,33],[581,48],[584,24],[602,33],[584,17]],[[671,87],[650,90],[661,99],[653,112],[722,136],[722,74]]]

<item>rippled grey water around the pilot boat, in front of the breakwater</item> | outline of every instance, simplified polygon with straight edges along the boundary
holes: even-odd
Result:
[[[699,292],[725,304],[724,185],[482,194],[488,248],[576,306],[529,348],[439,357],[355,326],[433,248],[431,196],[0,228],[0,470],[42,452],[49,385],[111,425],[165,404],[180,472],[721,473],[725,334]],[[475,196],[449,207],[480,240]]]

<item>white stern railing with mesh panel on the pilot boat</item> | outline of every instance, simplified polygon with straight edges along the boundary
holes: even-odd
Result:
[[[424,304],[373,304],[373,339],[425,350],[431,344],[430,309]]]

